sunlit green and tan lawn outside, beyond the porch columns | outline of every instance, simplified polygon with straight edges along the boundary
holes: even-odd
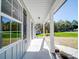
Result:
[[[49,35],[49,33],[47,34]],[[78,49],[78,33],[77,32],[55,32],[54,43],[58,45],[69,46]],[[43,34],[37,35],[43,37]],[[48,45],[50,44],[50,37],[45,38]]]

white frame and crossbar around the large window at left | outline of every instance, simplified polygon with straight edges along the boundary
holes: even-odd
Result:
[[[2,0],[0,0],[0,3],[1,3],[1,1],[2,1]],[[17,0],[17,1],[18,1],[18,0]],[[9,18],[10,20],[13,20],[13,21],[16,21],[16,22],[20,23],[20,24],[21,24],[21,40],[23,40],[23,29],[22,29],[22,28],[23,28],[23,7],[22,7],[20,1],[18,1],[18,3],[19,3],[19,5],[21,6],[21,15],[20,15],[20,16],[22,16],[22,17],[20,17],[20,20],[18,20],[18,19],[16,19],[16,18],[13,18],[12,16],[3,13],[3,12],[1,11],[1,4],[0,4],[0,19],[1,19],[1,16],[4,16],[4,17]],[[21,41],[21,40],[18,40],[18,41]],[[11,43],[11,40],[10,40],[10,43]],[[14,43],[17,43],[17,41],[14,42]],[[12,44],[12,43],[11,43],[11,44]],[[6,46],[8,46],[8,45],[6,45]],[[2,48],[5,48],[5,47],[2,47]],[[0,48],[0,50],[1,50],[2,48]]]

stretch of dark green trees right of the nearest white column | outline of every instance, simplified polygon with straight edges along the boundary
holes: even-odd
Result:
[[[74,31],[78,29],[78,21],[58,21],[54,22],[54,32],[65,32],[65,31]]]

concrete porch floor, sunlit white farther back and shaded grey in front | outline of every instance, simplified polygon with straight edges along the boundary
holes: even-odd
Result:
[[[23,59],[55,59],[43,39],[33,39]]]

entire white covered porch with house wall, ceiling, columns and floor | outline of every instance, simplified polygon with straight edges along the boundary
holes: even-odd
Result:
[[[0,59],[59,59],[55,53],[53,15],[65,2],[65,0],[0,0],[0,39],[2,39]],[[49,46],[45,37],[36,37],[35,29],[35,25],[41,23],[45,34],[45,23],[48,21]],[[7,26],[4,24],[7,30],[3,28],[3,23],[9,23]],[[2,37],[2,31],[9,33],[9,42],[5,47],[3,42],[6,38]]]

